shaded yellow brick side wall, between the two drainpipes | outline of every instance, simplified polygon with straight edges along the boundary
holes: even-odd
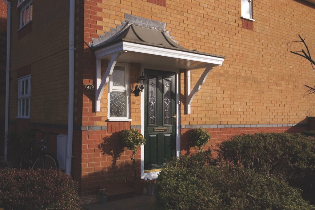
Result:
[[[33,1],[31,32],[20,39],[19,33],[23,33],[24,28],[19,30],[16,3],[12,1],[11,9],[10,120],[17,116],[17,70],[30,65],[30,122],[66,125],[69,2]]]

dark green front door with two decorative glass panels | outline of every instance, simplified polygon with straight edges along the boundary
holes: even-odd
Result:
[[[175,73],[145,70],[144,169],[165,167],[175,156]]]

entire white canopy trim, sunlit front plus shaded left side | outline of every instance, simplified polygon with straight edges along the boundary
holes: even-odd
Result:
[[[169,48],[156,47],[156,46],[151,46],[151,45],[144,45],[144,44],[130,43],[130,42],[121,42],[121,43],[113,44],[105,48],[95,50],[95,56],[97,59],[101,59],[108,55],[122,52],[122,51],[159,55],[159,56],[184,59],[184,60],[192,60],[192,61],[204,62],[205,64],[216,64],[216,65],[222,65],[223,60],[224,60],[224,58],[219,58],[219,57],[210,56],[210,55],[197,54],[197,53],[192,53],[192,52],[187,52],[187,51],[180,51],[177,49],[169,49]]]

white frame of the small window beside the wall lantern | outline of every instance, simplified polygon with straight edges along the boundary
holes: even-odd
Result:
[[[125,68],[125,86],[113,86],[112,76],[109,78],[108,82],[108,95],[107,95],[107,113],[108,113],[108,121],[131,121],[130,119],[130,85],[129,85],[129,64],[126,63],[116,63],[116,66]],[[115,67],[114,70],[115,71]],[[125,92],[126,93],[126,116],[125,117],[111,117],[110,116],[110,93],[112,91],[115,92]]]

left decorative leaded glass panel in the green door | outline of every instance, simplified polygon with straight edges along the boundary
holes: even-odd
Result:
[[[157,124],[157,78],[149,79],[149,125]]]

